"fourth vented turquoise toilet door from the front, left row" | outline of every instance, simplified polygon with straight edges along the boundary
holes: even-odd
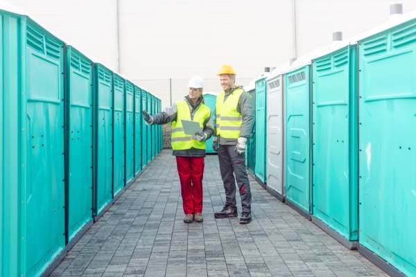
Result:
[[[113,75],[114,93],[114,196],[117,195],[125,185],[124,165],[124,79],[119,75]]]

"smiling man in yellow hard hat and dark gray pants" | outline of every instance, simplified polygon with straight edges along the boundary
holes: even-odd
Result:
[[[236,87],[236,73],[231,66],[221,66],[217,75],[223,91],[216,98],[216,138],[214,149],[218,152],[220,172],[225,189],[223,210],[214,214],[216,218],[237,217],[236,183],[241,196],[240,223],[251,222],[251,192],[245,170],[245,143],[254,127],[252,97]],[[234,179],[235,175],[235,179]]]

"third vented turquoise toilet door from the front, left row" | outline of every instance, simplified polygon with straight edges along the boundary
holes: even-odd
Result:
[[[94,215],[112,201],[112,71],[94,64]]]

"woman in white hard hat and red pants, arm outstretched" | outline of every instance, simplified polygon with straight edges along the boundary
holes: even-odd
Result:
[[[202,222],[202,177],[205,165],[205,141],[214,134],[211,110],[204,104],[200,77],[189,80],[189,94],[159,114],[150,116],[143,111],[146,123],[172,123],[172,149],[176,157],[177,173],[185,213],[184,222]],[[202,131],[194,136],[184,133],[182,120],[199,123]]]

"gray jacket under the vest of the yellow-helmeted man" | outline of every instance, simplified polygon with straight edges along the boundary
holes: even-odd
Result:
[[[224,101],[239,87],[225,91]],[[237,104],[237,111],[243,116],[243,123],[241,123],[241,134],[243,138],[250,138],[252,136],[256,114],[254,110],[254,101],[252,96],[247,91],[241,93],[239,102]],[[225,139],[218,136],[218,142],[223,145],[236,145],[237,139]]]

